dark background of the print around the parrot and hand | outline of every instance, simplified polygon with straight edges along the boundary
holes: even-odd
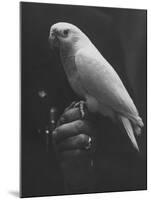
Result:
[[[138,138],[139,156],[127,137],[109,119],[102,118],[94,192],[146,189],[146,11],[24,2],[20,6],[21,196],[64,194],[62,174],[51,145],[46,152],[43,132],[52,106],[61,114],[78,99],[58,54],[48,44],[50,26],[61,21],[83,30],[112,64],[145,124]],[[45,91],[44,98],[40,91]]]

